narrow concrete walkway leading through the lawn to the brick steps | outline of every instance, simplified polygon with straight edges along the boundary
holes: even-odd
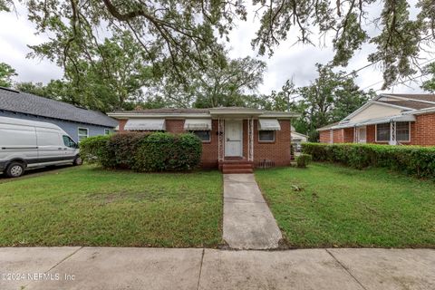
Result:
[[[224,174],[223,238],[235,249],[278,247],[281,231],[254,174]]]

